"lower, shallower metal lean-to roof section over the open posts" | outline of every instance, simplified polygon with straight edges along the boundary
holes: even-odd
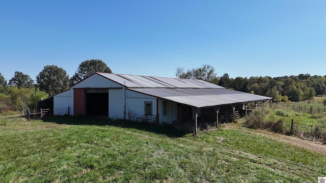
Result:
[[[129,88],[135,92],[167,99],[197,108],[269,100],[264,97],[226,88]]]

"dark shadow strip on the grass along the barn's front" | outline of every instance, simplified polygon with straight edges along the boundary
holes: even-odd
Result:
[[[65,125],[95,125],[95,126],[114,126],[126,129],[137,129],[156,134],[167,135],[169,137],[182,137],[191,132],[178,130],[172,125],[151,125],[145,123],[137,123],[135,121],[128,121],[123,119],[101,119],[86,116],[47,116],[43,118],[44,122],[51,122]]]

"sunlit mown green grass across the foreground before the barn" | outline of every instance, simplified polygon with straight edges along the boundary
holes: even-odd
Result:
[[[0,118],[0,182],[317,182],[326,156],[239,129]]]

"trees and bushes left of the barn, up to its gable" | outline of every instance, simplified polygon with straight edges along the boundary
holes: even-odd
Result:
[[[47,65],[36,76],[36,83],[27,74],[16,71],[9,80],[0,73],[0,114],[9,111],[36,110],[37,102],[63,92],[95,72],[112,73],[100,59],[86,60],[69,78],[67,72],[58,66]]]

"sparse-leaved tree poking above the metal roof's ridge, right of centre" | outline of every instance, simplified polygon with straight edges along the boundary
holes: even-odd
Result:
[[[215,81],[216,72],[213,66],[211,65],[203,65],[201,68],[193,68],[191,70],[184,71],[183,68],[176,69],[175,76],[177,78],[184,79],[202,79],[207,82]]]

